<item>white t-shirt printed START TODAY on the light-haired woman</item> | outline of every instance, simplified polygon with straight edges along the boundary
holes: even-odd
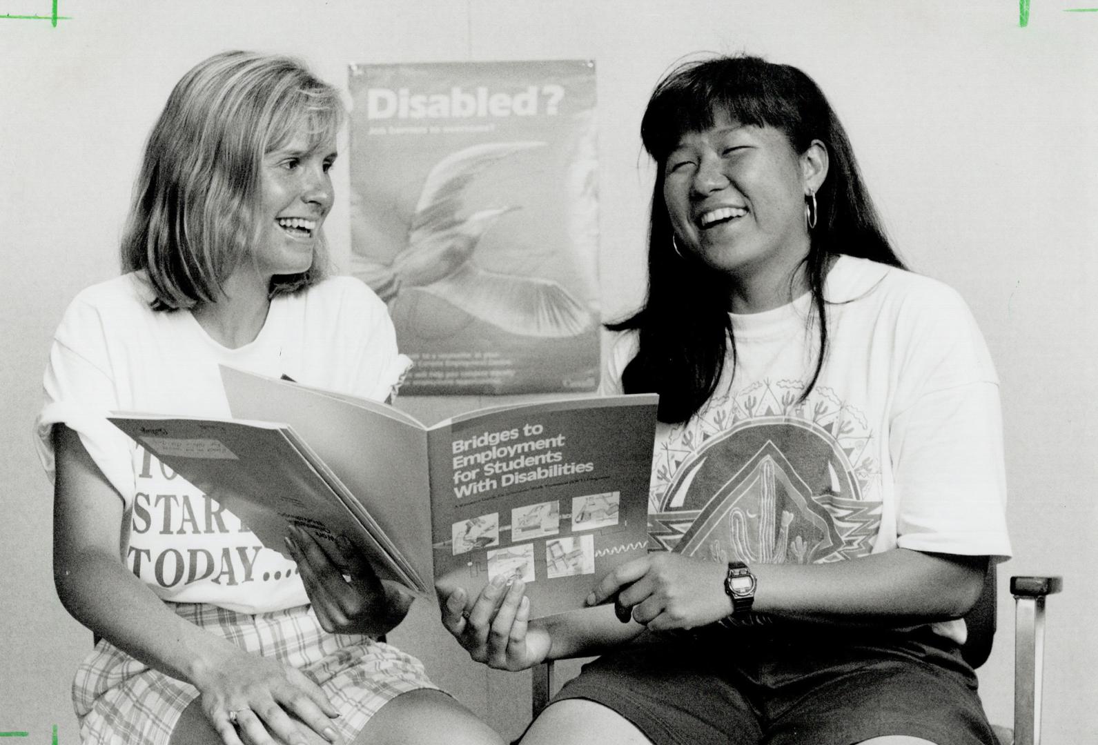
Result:
[[[229,417],[217,365],[289,376],[383,400],[410,360],[382,303],[351,278],[277,295],[254,341],[226,349],[190,312],[153,312],[142,274],[80,292],[54,336],[36,422],[54,475],[52,426],[65,422],[117,489],[130,528],[123,560],[165,600],[244,613],[307,602],[292,561],[264,548],[215,500],[107,421],[112,410]]]

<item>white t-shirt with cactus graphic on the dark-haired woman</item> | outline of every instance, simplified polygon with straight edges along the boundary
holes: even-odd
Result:
[[[894,548],[1010,555],[998,379],[950,287],[843,256],[828,273],[828,353],[808,398],[811,296],[731,314],[716,392],[657,429],[650,546],[751,564],[833,562]],[[688,323],[688,316],[687,320]],[[636,353],[614,345],[607,393]],[[960,621],[935,624],[957,641]]]

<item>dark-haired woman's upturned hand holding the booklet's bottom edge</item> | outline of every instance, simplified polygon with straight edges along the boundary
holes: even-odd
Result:
[[[530,599],[526,584],[507,584],[498,576],[489,583],[466,610],[468,597],[461,588],[442,602],[442,625],[479,663],[501,670],[525,670],[546,659],[549,633],[530,628]]]

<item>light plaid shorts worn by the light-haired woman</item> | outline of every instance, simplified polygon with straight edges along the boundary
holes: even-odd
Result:
[[[191,623],[253,654],[273,657],[312,678],[339,710],[332,722],[350,742],[384,703],[436,688],[423,664],[369,636],[329,634],[311,606],[248,616],[206,605],[167,603]],[[72,681],[72,706],[85,744],[167,745],[183,709],[199,691],[137,662],[105,640]]]

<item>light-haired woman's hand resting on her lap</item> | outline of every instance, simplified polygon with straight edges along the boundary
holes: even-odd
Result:
[[[339,711],[315,682],[293,667],[234,647],[195,674],[192,682],[201,693],[202,711],[225,745],[338,740],[332,719]]]

